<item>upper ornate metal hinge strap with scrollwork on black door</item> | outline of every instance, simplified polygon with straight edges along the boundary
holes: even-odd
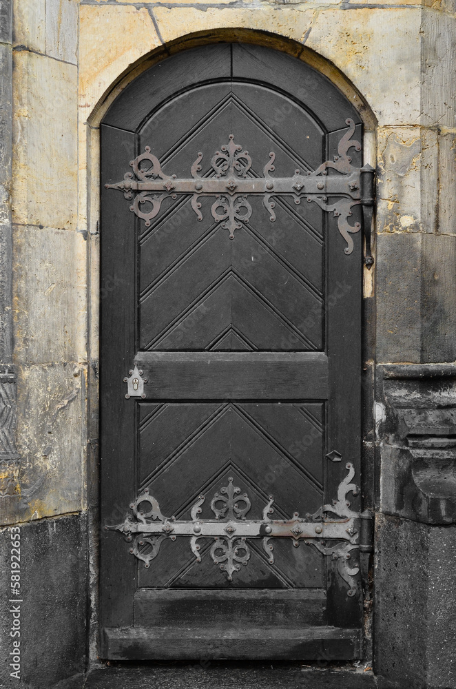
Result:
[[[371,165],[361,168],[351,165],[348,152],[351,148],[360,151],[361,145],[351,138],[355,132],[353,120],[347,119],[346,124],[349,125],[349,130],[342,136],[338,144],[338,155],[334,156],[334,160],[322,163],[314,172],[307,172],[305,175],[296,169],[292,177],[271,177],[276,154],[270,153],[270,160],[263,169],[263,177],[254,176],[249,152],[234,143],[234,136],[230,134],[229,143],[220,147],[220,151],[216,151],[212,157],[209,174],[215,176],[201,177],[198,174],[202,169],[202,153],[198,153],[198,158],[191,166],[191,178],[178,179],[175,174],[169,176],[161,169],[160,162],[151,153],[150,147],[146,146],[145,152],[130,163],[134,174],[127,172],[123,181],[105,184],[105,187],[120,189],[125,198],[132,200],[130,210],[138,218],[143,218],[147,227],[160,212],[164,198],[191,194],[191,207],[198,220],[203,220],[199,199],[201,196],[212,196],[215,199],[211,207],[212,217],[216,223],[221,223],[222,227],[229,230],[230,239],[234,239],[234,232],[242,227],[242,223],[249,222],[252,214],[249,196],[262,196],[271,223],[276,220],[273,197],[293,196],[296,204],[300,204],[302,198],[307,198],[309,203],[317,203],[325,212],[332,212],[338,218],[339,232],[346,240],[345,254],[353,251],[351,234],[361,229],[360,223],[349,223],[352,208],[362,204],[366,229],[366,265],[370,268],[373,264],[370,237],[375,171]],[[328,175],[328,169],[333,169],[338,174]],[[135,195],[134,192],[138,194]],[[145,205],[148,205],[147,210],[144,209]]]

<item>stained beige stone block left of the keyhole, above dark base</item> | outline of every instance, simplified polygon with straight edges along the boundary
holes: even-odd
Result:
[[[86,367],[18,367],[17,520],[81,510],[85,504]]]

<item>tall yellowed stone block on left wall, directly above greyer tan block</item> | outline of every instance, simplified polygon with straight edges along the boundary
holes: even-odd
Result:
[[[77,68],[14,54],[14,223],[72,229],[77,213]]]

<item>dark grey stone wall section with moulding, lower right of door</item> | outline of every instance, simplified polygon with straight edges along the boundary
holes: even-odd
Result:
[[[379,367],[375,670],[456,686],[456,367]]]

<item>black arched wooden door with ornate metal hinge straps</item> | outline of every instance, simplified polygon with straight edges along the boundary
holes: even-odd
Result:
[[[360,657],[357,141],[242,44],[103,119],[103,657]]]

